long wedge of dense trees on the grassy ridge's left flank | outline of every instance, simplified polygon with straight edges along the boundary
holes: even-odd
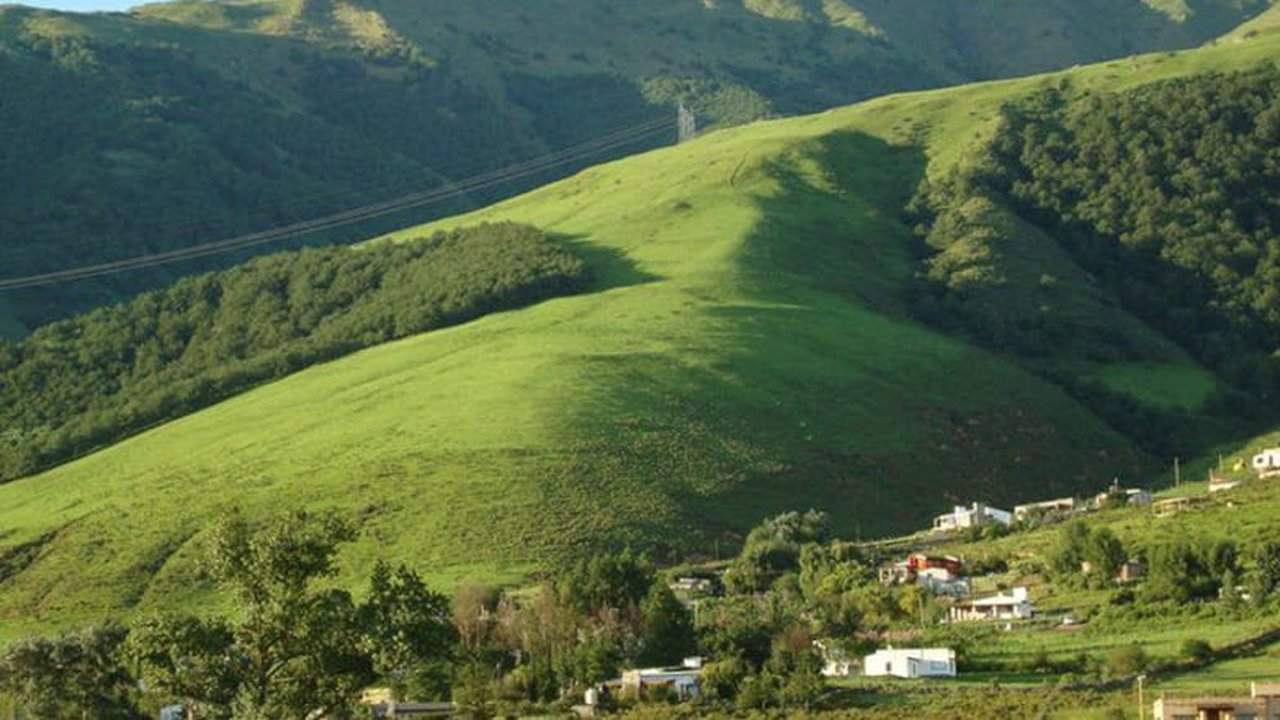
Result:
[[[311,249],[179,281],[0,343],[0,479],[411,334],[582,290],[584,264],[511,223]]]

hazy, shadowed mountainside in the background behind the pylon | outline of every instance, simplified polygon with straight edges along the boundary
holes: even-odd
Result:
[[[269,0],[131,14],[0,8],[4,278],[188,247],[548,151],[584,156],[347,231],[351,240],[530,188],[704,124],[1185,47],[1265,0]],[[636,129],[639,128],[639,129]],[[275,245],[279,249],[280,245]],[[0,332],[261,247],[6,291]],[[0,279],[4,279],[0,278]]]

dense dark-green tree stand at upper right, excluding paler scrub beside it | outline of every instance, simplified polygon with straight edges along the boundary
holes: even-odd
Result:
[[[1125,306],[1233,366],[1280,346],[1277,91],[1265,67],[1069,105],[1046,94],[1010,108],[997,186]]]

